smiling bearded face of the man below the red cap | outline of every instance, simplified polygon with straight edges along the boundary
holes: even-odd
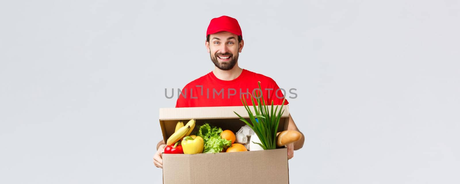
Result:
[[[217,68],[230,70],[238,62],[238,52],[242,51],[243,41],[239,43],[237,35],[223,31],[209,35],[206,47]]]

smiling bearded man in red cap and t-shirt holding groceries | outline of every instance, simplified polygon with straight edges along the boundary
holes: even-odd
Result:
[[[249,94],[258,94],[258,81],[268,104],[282,104],[283,94],[273,79],[238,66],[238,56],[244,41],[235,18],[213,18],[207,28],[206,38],[206,49],[215,68],[187,84],[178,97],[176,107],[242,106],[241,98],[246,98],[248,105],[252,105]],[[284,104],[288,104],[288,101]],[[291,115],[288,130],[299,131]],[[299,141],[288,144],[288,159],[293,157],[293,150],[299,150],[303,144],[304,136]],[[161,153],[164,148],[165,143],[161,140],[154,156],[156,167],[163,167]]]

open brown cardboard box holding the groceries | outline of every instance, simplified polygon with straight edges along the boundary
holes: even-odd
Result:
[[[281,107],[281,106],[280,106]],[[252,107],[251,107],[252,108]],[[252,108],[253,109],[253,108]],[[284,113],[278,132],[286,130],[289,108]],[[160,109],[160,126],[165,142],[173,134],[179,120],[196,119],[197,130],[205,122],[222,130],[237,132],[246,125],[235,111],[248,118],[243,106],[191,107]],[[288,153],[276,150],[233,153],[202,153],[195,155],[163,154],[163,184],[288,184]]]

